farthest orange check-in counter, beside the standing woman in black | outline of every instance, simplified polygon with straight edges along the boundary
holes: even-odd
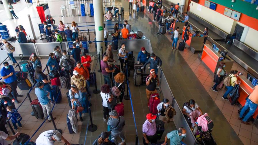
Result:
[[[184,39],[186,26],[183,27],[183,33],[182,33],[182,40]],[[204,37],[199,37],[197,34],[196,36],[193,36],[192,33],[189,34],[189,39],[185,42],[189,49],[195,53],[195,51],[202,51]],[[193,48],[191,48],[193,47]]]

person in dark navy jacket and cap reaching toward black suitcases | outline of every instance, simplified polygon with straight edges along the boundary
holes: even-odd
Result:
[[[158,68],[160,68],[160,66],[162,65],[162,60],[158,56],[156,56],[154,53],[152,53],[151,58],[149,58],[147,60],[147,62],[145,62],[145,64],[143,65],[143,67],[141,69],[146,67],[147,64],[150,64],[150,69],[154,69],[155,72],[158,73]]]

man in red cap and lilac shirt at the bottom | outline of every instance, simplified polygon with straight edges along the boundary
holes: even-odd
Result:
[[[158,140],[157,136],[157,128],[156,128],[156,115],[151,113],[146,115],[147,120],[143,124],[143,144],[148,145],[149,142],[151,144],[156,143]]]

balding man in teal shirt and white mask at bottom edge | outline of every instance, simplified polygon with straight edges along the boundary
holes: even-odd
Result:
[[[179,127],[177,130],[173,130],[165,137],[165,141],[161,145],[165,145],[167,140],[170,139],[170,145],[181,145],[186,137],[186,130],[184,127]]]

